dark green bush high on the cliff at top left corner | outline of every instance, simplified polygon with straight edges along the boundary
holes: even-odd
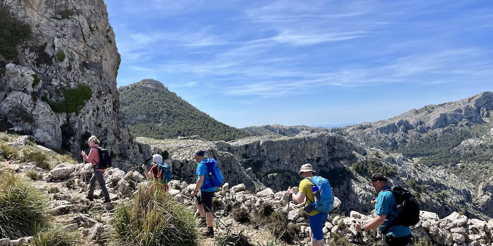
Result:
[[[17,58],[15,47],[31,37],[31,28],[12,15],[6,5],[0,3],[0,55],[5,59]]]

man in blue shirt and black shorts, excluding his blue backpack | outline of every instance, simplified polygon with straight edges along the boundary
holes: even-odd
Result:
[[[190,192],[190,196],[196,198],[195,205],[197,205],[200,214],[199,225],[204,226],[207,224],[207,230],[201,233],[202,236],[213,238],[212,198],[217,187],[211,186],[211,175],[205,164],[206,158],[204,154],[205,152],[202,150],[194,154],[195,161],[197,162],[197,171],[195,172],[197,184],[195,185],[195,189]]]

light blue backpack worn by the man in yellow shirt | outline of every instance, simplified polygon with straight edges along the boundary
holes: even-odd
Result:
[[[320,176],[313,176],[311,179],[306,179],[312,182],[312,190],[315,197],[315,201],[311,201],[307,197],[310,201],[310,204],[307,207],[312,207],[312,209],[321,213],[332,212],[332,210],[334,210],[334,196],[332,195],[329,181]]]

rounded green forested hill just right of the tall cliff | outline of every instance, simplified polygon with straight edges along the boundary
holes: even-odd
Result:
[[[229,141],[250,135],[214,120],[156,80],[144,79],[118,91],[125,123],[134,136],[168,139],[199,135]]]

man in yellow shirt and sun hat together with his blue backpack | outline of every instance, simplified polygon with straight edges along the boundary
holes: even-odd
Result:
[[[294,190],[293,188],[291,188],[291,186],[289,186],[287,192],[291,194],[293,201],[295,203],[302,203],[306,198],[305,211],[308,214],[308,221],[310,223],[310,229],[311,229],[310,236],[312,238],[312,246],[324,246],[325,239],[323,237],[322,228],[325,224],[325,221],[327,221],[328,212],[321,212],[314,205],[314,204],[318,204],[318,202],[320,201],[318,186],[314,184],[314,178],[317,177],[317,179],[320,179],[321,182],[326,182],[326,184],[324,185],[328,185],[328,181],[319,176],[313,177],[315,170],[313,169],[312,164],[310,163],[303,164],[298,173],[303,177],[303,180],[300,182],[299,185],[299,192],[296,194],[293,193]],[[331,206],[333,208],[333,196],[332,196],[332,191],[330,190],[330,186],[328,186],[328,188],[326,189],[327,189],[327,191],[325,191],[327,192],[326,195],[328,196],[330,193],[330,197],[332,199],[332,201],[327,202],[327,204],[331,203]],[[315,195],[314,195],[314,190],[315,190]],[[329,211],[331,210],[332,209],[329,209]]]

